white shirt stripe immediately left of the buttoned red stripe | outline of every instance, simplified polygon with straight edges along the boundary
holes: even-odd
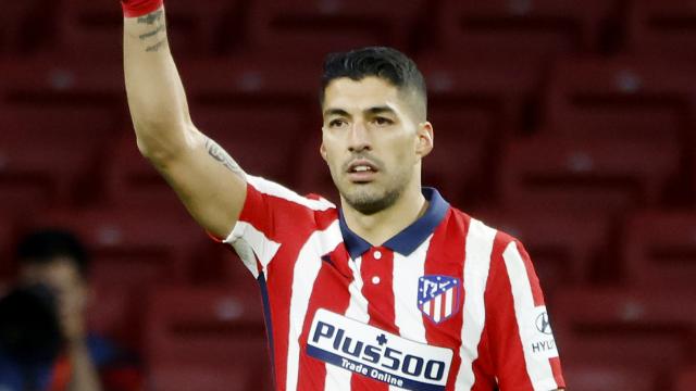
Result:
[[[362,257],[355,261],[348,260],[348,266],[352,272],[353,280],[348,286],[348,292],[350,293],[350,302],[346,310],[346,317],[353,320],[362,321],[364,324],[370,323],[370,315],[368,313],[368,299],[362,295],[362,275],[360,274],[360,267],[362,265]],[[325,391],[350,391],[350,379],[352,373],[350,370],[339,368],[335,365],[326,364],[326,381],[324,382]]]

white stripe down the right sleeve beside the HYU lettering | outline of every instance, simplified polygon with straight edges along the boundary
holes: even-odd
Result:
[[[508,244],[502,253],[502,258],[510,277],[514,316],[518,320],[520,340],[522,340],[526,371],[530,375],[534,390],[557,389],[558,384],[554,379],[554,370],[548,357],[533,354],[531,351],[531,345],[538,339],[539,333],[535,326],[538,312],[534,307],[532,286],[515,242]]]

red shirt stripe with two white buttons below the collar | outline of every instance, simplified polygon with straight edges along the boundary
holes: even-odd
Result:
[[[381,253],[377,260],[375,251]],[[370,325],[387,332],[398,335],[394,315],[394,253],[391,250],[376,247],[362,255],[360,275],[362,276],[362,295],[368,300]],[[378,281],[374,280],[378,278]],[[389,386],[378,380],[353,375],[350,386],[352,390],[387,391]]]

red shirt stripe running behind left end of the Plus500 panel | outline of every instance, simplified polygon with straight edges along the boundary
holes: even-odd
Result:
[[[348,286],[352,282],[352,274],[348,267],[348,252],[344,243],[325,256],[319,270],[307,316],[300,336],[300,362],[297,378],[298,390],[323,390],[326,380],[326,365],[322,361],[307,355],[307,340],[312,326],[312,319],[319,308],[325,308],[336,314],[344,314],[350,303]]]

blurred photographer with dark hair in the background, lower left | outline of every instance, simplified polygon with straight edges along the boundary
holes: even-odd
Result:
[[[18,289],[29,287],[27,291],[32,292],[34,287],[46,287],[54,298],[52,314],[62,348],[58,358],[48,362],[28,362],[0,349],[0,390],[140,390],[140,375],[133,361],[86,329],[90,288],[88,257],[82,243],[67,231],[44,229],[23,238],[16,255]]]

